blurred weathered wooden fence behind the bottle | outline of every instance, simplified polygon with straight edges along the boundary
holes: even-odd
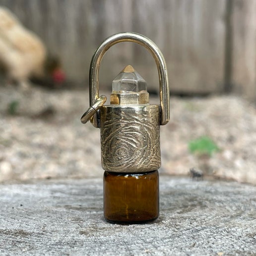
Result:
[[[108,36],[133,31],[163,52],[173,92],[237,91],[256,98],[255,0],[0,0],[87,86],[91,57]],[[158,88],[154,60],[121,43],[103,59],[100,86],[127,64]]]

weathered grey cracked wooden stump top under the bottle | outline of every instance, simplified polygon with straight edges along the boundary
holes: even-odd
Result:
[[[255,255],[256,187],[160,176],[151,224],[103,219],[102,179],[0,185],[1,255]]]

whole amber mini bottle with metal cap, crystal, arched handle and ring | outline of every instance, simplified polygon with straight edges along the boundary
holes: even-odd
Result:
[[[149,104],[146,81],[131,65],[112,82],[110,104],[99,97],[98,69],[105,52],[119,42],[146,47],[159,74],[160,105]],[[169,87],[164,58],[148,38],[119,33],[95,52],[90,67],[90,105],[81,118],[100,128],[104,172],[104,217],[108,222],[144,223],[159,215],[160,125],[169,121]]]

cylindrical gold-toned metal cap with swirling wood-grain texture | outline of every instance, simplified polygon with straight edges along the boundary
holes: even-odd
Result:
[[[112,172],[144,172],[161,165],[159,110],[108,113],[101,128],[103,169]]]

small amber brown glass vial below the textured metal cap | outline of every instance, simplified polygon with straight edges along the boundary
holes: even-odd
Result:
[[[104,173],[104,217],[111,223],[132,224],[159,215],[158,171]]]

